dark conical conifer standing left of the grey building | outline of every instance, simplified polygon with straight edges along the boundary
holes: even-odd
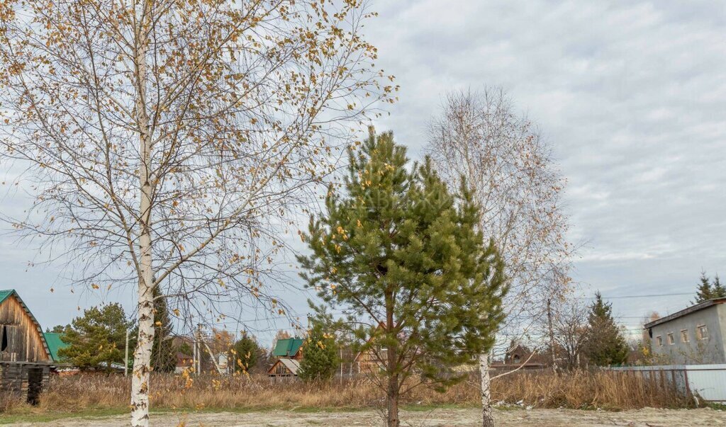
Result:
[[[585,355],[597,366],[621,365],[627,360],[628,346],[620,328],[615,323],[612,304],[603,301],[600,292],[588,315]]]

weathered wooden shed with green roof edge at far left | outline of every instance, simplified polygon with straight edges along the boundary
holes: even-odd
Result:
[[[43,329],[15,289],[0,291],[0,390],[38,402],[48,389],[53,355]]]

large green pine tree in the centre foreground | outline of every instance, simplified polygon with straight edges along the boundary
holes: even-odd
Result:
[[[371,130],[348,154],[344,191],[331,187],[326,212],[311,217],[303,240],[313,254],[299,260],[319,297],[368,323],[347,332],[384,367],[388,426],[399,426],[409,376],[444,389],[492,347],[504,266],[465,185],[450,194],[428,159],[409,167],[392,133]]]

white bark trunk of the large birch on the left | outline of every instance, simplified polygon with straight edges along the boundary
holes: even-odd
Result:
[[[149,426],[149,379],[151,372],[151,351],[154,341],[154,298],[152,270],[151,207],[152,183],[151,144],[149,117],[146,109],[147,80],[147,28],[150,26],[150,2],[144,3],[141,26],[137,28],[136,62],[136,123],[139,126],[139,294],[138,324],[139,336],[134,350],[134,370],[131,376],[131,426]]]

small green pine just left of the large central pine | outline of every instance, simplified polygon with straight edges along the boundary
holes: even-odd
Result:
[[[303,360],[298,376],[303,381],[326,381],[333,378],[338,360],[338,345],[332,333],[327,333],[322,322],[312,322],[312,328],[303,341]]]

